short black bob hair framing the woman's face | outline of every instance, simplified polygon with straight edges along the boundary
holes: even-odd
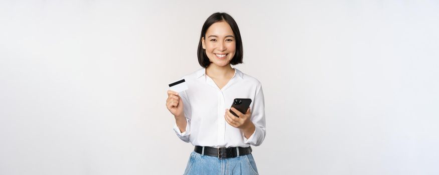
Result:
[[[206,31],[210,27],[210,25],[214,24],[215,22],[219,22],[223,20],[230,25],[230,27],[233,30],[233,34],[235,35],[236,50],[235,50],[235,55],[233,56],[232,60],[230,60],[230,64],[236,65],[242,63],[242,56],[243,56],[242,39],[241,39],[241,33],[239,32],[238,24],[236,24],[235,19],[233,19],[233,17],[230,16],[229,14],[224,12],[216,12],[210,15],[206,19],[206,21],[203,24],[203,28],[201,29],[200,43],[198,44],[197,56],[198,56],[198,63],[200,63],[202,67],[209,66],[211,62],[206,55],[206,50],[203,48],[201,38],[204,37],[206,39]]]

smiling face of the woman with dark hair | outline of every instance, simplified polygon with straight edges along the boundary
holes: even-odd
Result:
[[[228,65],[236,50],[235,35],[230,25],[226,21],[215,22],[205,36],[201,40],[209,60],[218,66]]]

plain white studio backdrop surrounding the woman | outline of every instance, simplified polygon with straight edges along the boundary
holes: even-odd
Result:
[[[439,174],[436,0],[0,1],[0,174],[181,174],[167,84],[213,12],[263,85],[260,174]]]

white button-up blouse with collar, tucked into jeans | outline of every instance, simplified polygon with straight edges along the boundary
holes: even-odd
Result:
[[[199,69],[183,76],[189,89],[180,92],[184,113],[188,124],[186,131],[180,132],[177,124],[174,130],[183,141],[193,145],[212,147],[258,146],[265,137],[264,95],[261,83],[254,77],[242,73],[237,68],[229,82],[220,89],[206,69]],[[235,98],[250,98],[251,117],[255,131],[247,139],[244,133],[231,126],[224,118],[226,108],[230,108]]]

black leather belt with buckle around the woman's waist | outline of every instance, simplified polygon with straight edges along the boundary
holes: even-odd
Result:
[[[204,147],[204,152],[203,152],[203,147]],[[219,159],[222,158],[232,158],[232,157],[237,157],[239,155],[246,155],[251,153],[251,147],[209,147],[209,146],[195,146],[194,149],[195,152],[203,154],[204,155],[209,155],[209,156],[215,156],[218,157]]]

